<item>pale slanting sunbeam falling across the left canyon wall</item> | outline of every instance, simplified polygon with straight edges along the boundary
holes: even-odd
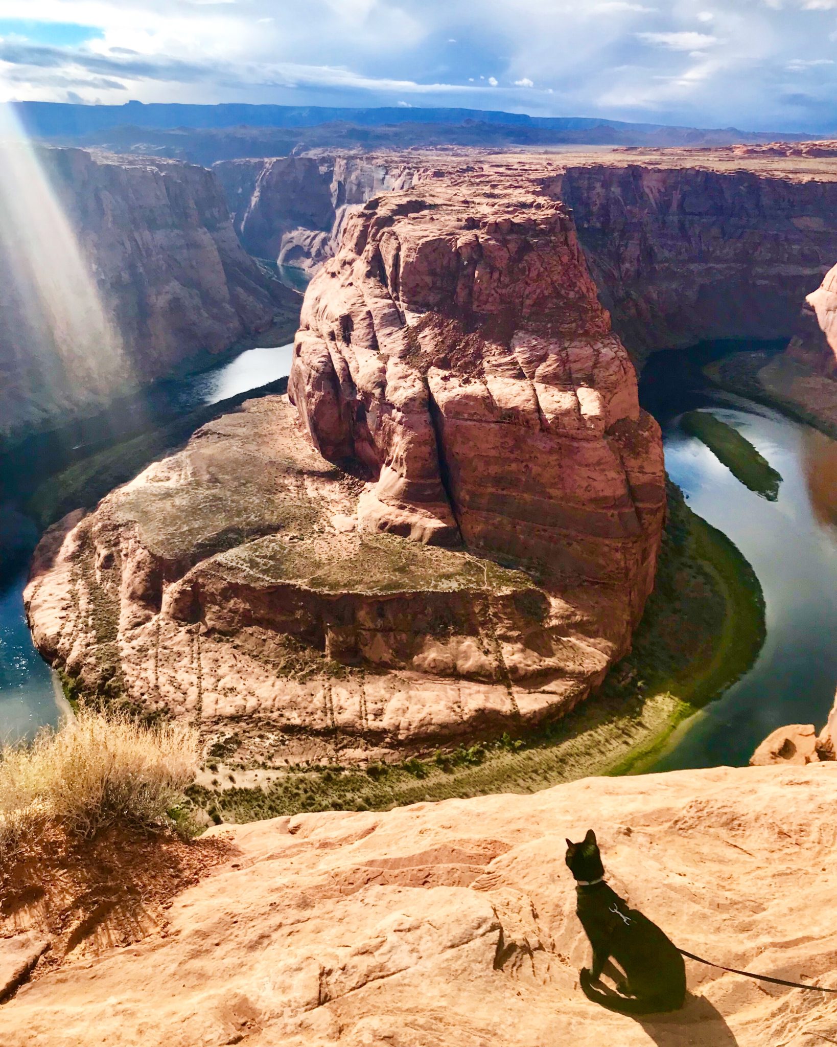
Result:
[[[0,430],[37,422],[28,404],[46,419],[133,384],[78,200],[66,190],[80,159],[35,146],[13,107],[0,106]]]

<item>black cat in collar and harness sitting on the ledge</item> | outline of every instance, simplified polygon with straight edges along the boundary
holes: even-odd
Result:
[[[576,881],[575,911],[593,946],[593,965],[580,975],[588,1000],[624,1015],[652,1015],[677,1010],[686,994],[683,957],[662,931],[626,903],[605,883],[605,868],[595,833],[588,830],[582,843],[567,841],[567,865]],[[610,957],[625,972],[618,990],[593,988]]]

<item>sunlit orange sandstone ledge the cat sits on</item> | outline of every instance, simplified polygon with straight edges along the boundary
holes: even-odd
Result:
[[[835,985],[835,764],[718,767],[225,828],[239,853],[174,899],[163,932],[23,986],[3,1044],[833,1042],[833,997],[692,961],[680,1012],[589,1003],[563,852],[593,826],[611,884],[682,948]]]

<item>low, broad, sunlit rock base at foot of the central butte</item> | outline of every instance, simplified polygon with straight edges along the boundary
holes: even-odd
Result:
[[[234,725],[243,758],[350,761],[560,714],[629,642],[627,584],[370,533],[363,497],[251,401],[47,532],[36,644],[87,693]]]

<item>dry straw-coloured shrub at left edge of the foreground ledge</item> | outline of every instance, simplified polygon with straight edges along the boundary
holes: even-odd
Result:
[[[0,751],[0,852],[50,828],[89,839],[112,825],[171,822],[166,812],[193,781],[198,757],[188,725],[145,727],[82,707],[59,730]]]

